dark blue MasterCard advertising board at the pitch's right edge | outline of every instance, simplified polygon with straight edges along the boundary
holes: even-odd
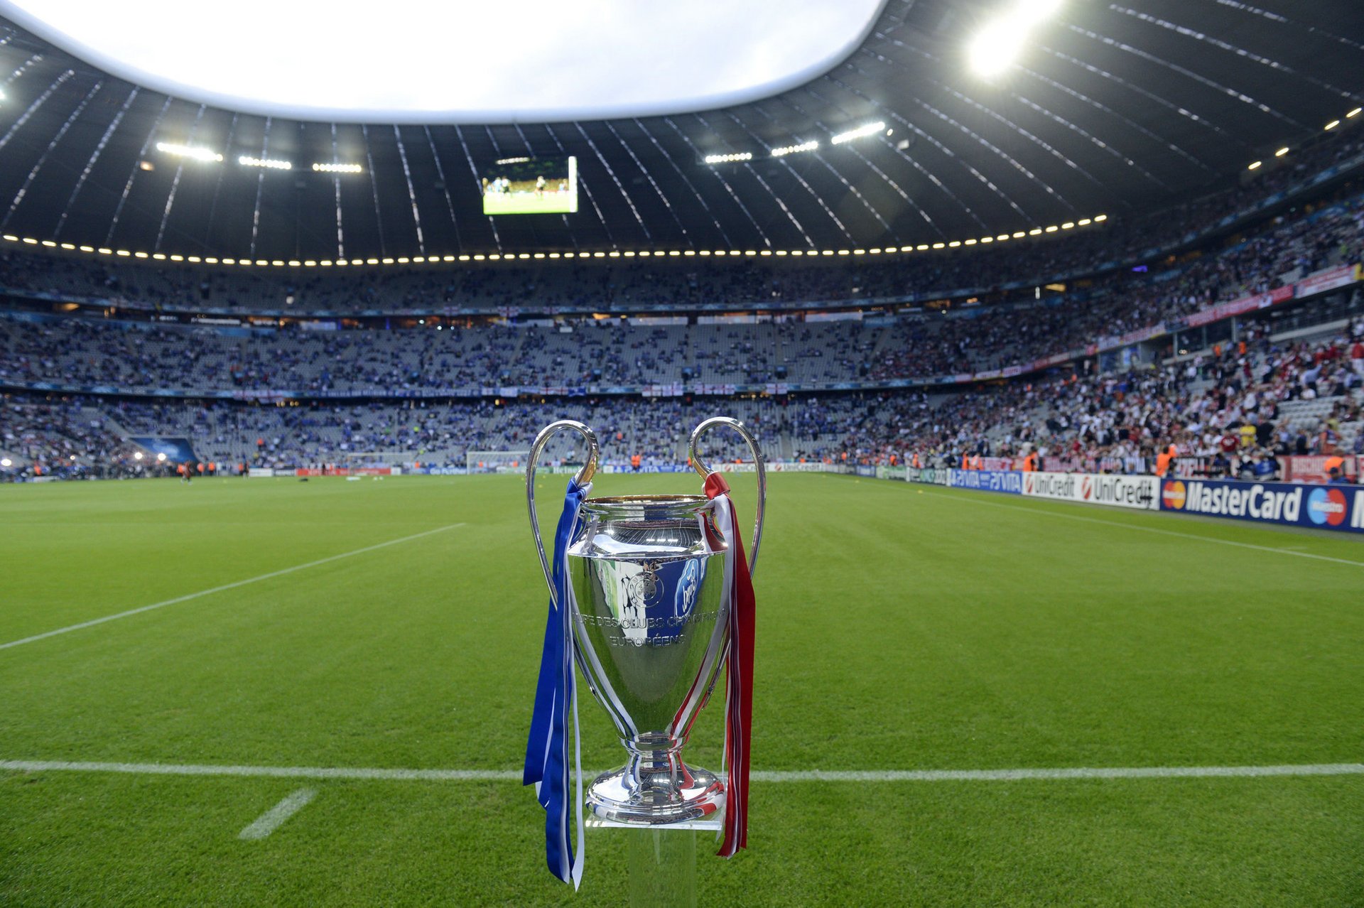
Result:
[[[1166,480],[1161,510],[1364,533],[1364,488],[1357,485]]]

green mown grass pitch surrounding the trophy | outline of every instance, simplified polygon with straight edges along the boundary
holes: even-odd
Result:
[[[546,594],[516,477],[0,487],[0,644],[451,524],[0,649],[0,759],[517,769]],[[756,770],[1364,758],[1359,540],[779,474],[756,588]],[[720,713],[693,762],[717,768]],[[614,765],[582,714],[585,765]],[[702,904],[1364,904],[1360,774],[752,799],[746,852],[702,840]],[[627,833],[589,830],[574,894],[542,830],[516,781],[0,770],[0,904],[623,904]]]

